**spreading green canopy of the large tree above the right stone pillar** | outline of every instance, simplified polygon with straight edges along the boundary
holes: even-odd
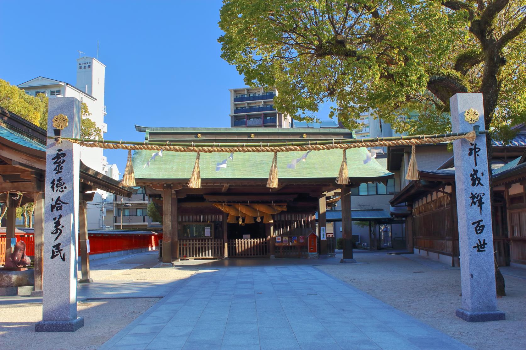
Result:
[[[501,138],[526,121],[526,0],[225,0],[222,57],[275,107],[358,127],[362,112],[400,132],[451,128],[449,98],[482,92]],[[418,123],[408,119],[418,116]]]

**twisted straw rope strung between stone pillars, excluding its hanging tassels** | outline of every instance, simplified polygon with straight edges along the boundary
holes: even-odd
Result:
[[[128,149],[128,150],[150,150],[150,151],[172,151],[172,152],[290,152],[290,151],[322,151],[329,149],[350,149],[360,147],[385,147],[385,146],[412,146],[412,145],[426,145],[429,143],[449,142],[453,140],[466,139],[473,143],[477,137],[475,131],[470,131],[466,135],[446,136],[446,137],[428,137],[423,139],[410,140],[391,140],[391,141],[368,141],[368,142],[352,142],[352,143],[333,143],[329,145],[305,145],[305,146],[256,146],[256,147],[195,147],[195,146],[156,146],[156,145],[126,145],[125,143],[110,143],[110,142],[86,142],[79,141],[73,138],[63,138],[69,142],[77,143],[84,147],[98,147],[104,149]]]

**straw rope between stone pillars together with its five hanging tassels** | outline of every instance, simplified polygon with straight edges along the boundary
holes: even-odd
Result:
[[[480,131],[480,133],[485,133],[487,131]],[[417,136],[418,137],[418,136]],[[194,143],[192,142],[189,146],[175,146],[175,145],[169,145],[170,142],[166,142],[166,145],[147,145],[146,142],[144,142],[142,145],[140,143],[137,143],[135,145],[130,145],[129,143],[126,144],[122,142],[116,142],[116,141],[106,141],[104,140],[80,140],[80,139],[73,139],[73,138],[63,138],[59,139],[58,142],[62,140],[66,140],[69,142],[77,143],[80,146],[84,147],[97,147],[97,148],[104,148],[104,149],[127,149],[129,151],[131,150],[149,150],[149,151],[171,151],[171,152],[197,152],[196,162],[194,165],[194,171],[192,172],[190,176],[190,180],[188,181],[187,186],[189,188],[201,188],[201,178],[200,178],[200,171],[199,171],[199,153],[213,153],[213,152],[222,152],[222,153],[232,153],[232,152],[274,152],[274,158],[272,159],[272,164],[270,168],[269,173],[269,179],[267,181],[267,187],[269,188],[277,188],[278,187],[278,164],[277,164],[277,152],[290,152],[290,151],[323,151],[323,150],[331,150],[331,149],[342,149],[343,150],[343,157],[342,157],[342,163],[340,167],[340,172],[338,174],[338,177],[336,178],[336,183],[338,184],[349,184],[349,174],[348,174],[348,168],[347,168],[347,155],[346,150],[351,148],[360,148],[360,147],[389,147],[389,146],[411,146],[411,160],[410,160],[410,166],[408,169],[408,173],[406,174],[406,179],[408,180],[418,180],[418,166],[417,166],[417,160],[415,157],[416,152],[416,145],[426,145],[429,143],[441,143],[441,142],[450,142],[453,140],[460,140],[460,139],[466,139],[470,143],[473,143],[477,137],[477,133],[475,131],[470,131],[464,135],[457,134],[443,134],[443,135],[434,135],[434,136],[428,136],[425,135],[422,138],[416,138],[416,137],[409,137],[409,139],[406,137],[404,140],[403,137],[400,139],[395,140],[377,140],[373,141],[372,139],[368,139],[368,141],[361,141],[359,142],[356,139],[353,140],[340,140],[340,143],[335,143],[334,141],[331,143],[326,143],[323,145],[288,145],[288,143],[285,144],[285,146],[263,146],[263,143],[261,143],[260,146],[229,146],[229,147],[219,147],[215,146],[215,143],[213,146],[194,146]],[[345,143],[343,143],[345,142]],[[279,144],[279,143],[278,143]],[[231,145],[231,144],[230,144]],[[254,145],[254,143],[252,143]],[[128,155],[128,163],[131,167],[131,157]],[[128,166],[126,167],[128,168]],[[133,172],[131,174],[133,176]],[[131,183],[133,179],[129,179],[129,183]]]

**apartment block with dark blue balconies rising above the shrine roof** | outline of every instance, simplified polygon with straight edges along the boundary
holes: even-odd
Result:
[[[230,127],[291,128],[292,118],[274,108],[275,96],[272,88],[230,89]]]

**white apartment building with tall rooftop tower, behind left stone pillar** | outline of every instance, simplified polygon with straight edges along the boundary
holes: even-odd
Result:
[[[106,66],[93,57],[80,57],[76,59],[75,70],[77,71],[75,85],[41,76],[17,86],[31,96],[42,93],[49,98],[76,97],[88,106],[91,114],[89,119],[93,120],[103,133],[107,132],[108,127],[104,122],[104,117],[106,116],[106,106],[104,105]],[[101,137],[103,136],[101,135]],[[81,147],[80,160],[93,170],[116,180],[119,179],[116,164],[108,164],[101,148]],[[108,195],[110,194],[105,191],[97,190],[93,201],[88,202],[88,229],[106,229],[103,204]],[[108,227],[108,229],[113,229],[113,226]]]

